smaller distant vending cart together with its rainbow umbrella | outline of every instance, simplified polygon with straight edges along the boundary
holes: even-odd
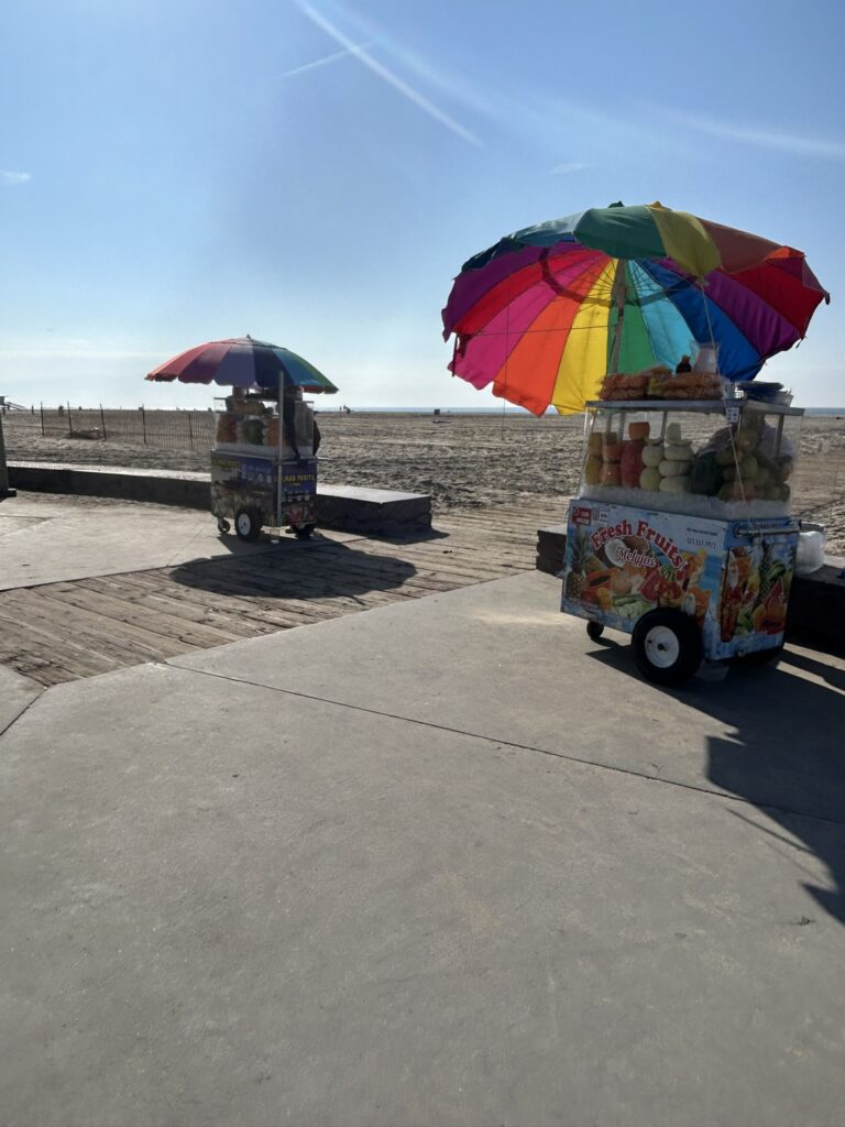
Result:
[[[232,337],[180,353],[146,376],[231,388],[217,407],[211,454],[212,512],[221,532],[256,540],[261,527],[314,527],[319,431],[303,392],[336,392],[313,364],[287,348]]]

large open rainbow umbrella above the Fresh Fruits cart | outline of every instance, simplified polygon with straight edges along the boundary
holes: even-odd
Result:
[[[464,263],[443,310],[450,370],[542,415],[584,410],[608,371],[675,369],[697,341],[753,380],[829,301],[800,250],[659,203],[528,227]]]

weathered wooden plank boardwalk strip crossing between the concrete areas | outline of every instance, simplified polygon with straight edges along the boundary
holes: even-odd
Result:
[[[0,593],[0,664],[60,684],[533,570],[550,506],[452,509],[435,534],[197,560]]]

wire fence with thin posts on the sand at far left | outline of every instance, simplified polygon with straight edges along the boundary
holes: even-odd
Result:
[[[3,419],[8,431],[45,438],[87,438],[137,443],[171,450],[208,451],[214,443],[212,410],[137,410],[104,407],[16,407]]]

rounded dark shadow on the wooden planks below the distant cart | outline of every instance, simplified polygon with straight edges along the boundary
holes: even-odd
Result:
[[[391,591],[416,571],[412,564],[397,556],[376,556],[327,540],[288,541],[277,551],[189,560],[172,568],[170,578],[230,597],[306,602]]]

